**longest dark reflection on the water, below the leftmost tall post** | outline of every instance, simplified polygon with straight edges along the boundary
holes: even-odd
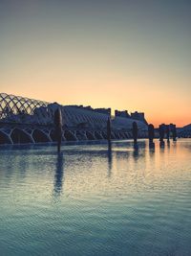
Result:
[[[64,174],[64,157],[63,152],[59,152],[56,158],[55,175],[54,175],[54,196],[59,196],[62,193]]]

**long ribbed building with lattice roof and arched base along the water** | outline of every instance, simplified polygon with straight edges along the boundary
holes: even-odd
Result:
[[[13,95],[0,94],[0,144],[38,143],[55,141],[53,114],[57,104],[49,104]],[[103,140],[110,113],[91,107],[59,105],[64,120],[63,140]],[[116,117],[112,121],[112,138],[132,137],[133,119]],[[139,137],[147,135],[147,127],[136,121]]]

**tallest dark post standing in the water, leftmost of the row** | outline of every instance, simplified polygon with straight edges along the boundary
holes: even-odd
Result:
[[[57,141],[57,151],[59,152],[62,142],[62,113],[59,107],[54,111],[54,126]]]

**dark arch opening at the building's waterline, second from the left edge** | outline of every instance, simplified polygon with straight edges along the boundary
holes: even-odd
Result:
[[[11,132],[11,140],[13,144],[32,143],[31,136],[20,128],[14,128]]]

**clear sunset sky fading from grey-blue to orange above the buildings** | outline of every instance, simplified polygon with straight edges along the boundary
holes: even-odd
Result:
[[[191,123],[190,0],[0,0],[0,92]]]

